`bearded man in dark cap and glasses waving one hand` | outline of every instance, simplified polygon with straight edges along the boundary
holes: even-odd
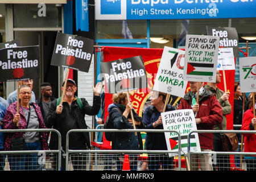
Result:
[[[75,97],[77,90],[76,82],[72,79],[67,80],[67,85],[61,90],[64,92],[63,104],[57,104],[59,99],[51,102],[49,114],[46,119],[46,126],[56,129],[61,134],[61,146],[66,150],[66,135],[72,129],[87,129],[85,114],[96,115],[100,111],[101,101],[100,92],[102,89],[101,82],[93,88],[93,105],[90,106],[85,98]],[[49,148],[56,150],[58,147],[58,137],[56,133],[51,134]],[[76,132],[69,135],[69,149],[86,150],[90,148],[90,139],[88,132]],[[71,156],[73,169],[86,169],[86,156],[82,154]],[[61,170],[65,171],[65,158],[61,155]]]

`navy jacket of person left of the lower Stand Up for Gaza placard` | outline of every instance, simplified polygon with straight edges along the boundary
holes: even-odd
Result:
[[[171,110],[175,110],[175,107],[167,105],[166,111]],[[156,126],[155,128],[153,127],[153,123],[158,120],[160,115],[161,113],[155,108],[155,106],[148,106],[143,114],[143,123],[146,126],[146,129],[163,130],[163,125]],[[146,150],[168,150],[164,133],[148,132],[145,141],[145,148]]]

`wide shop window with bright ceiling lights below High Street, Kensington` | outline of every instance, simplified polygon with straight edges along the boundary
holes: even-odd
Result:
[[[256,36],[256,18],[150,20],[150,47],[184,48],[186,34],[207,35],[207,26],[236,28],[240,43],[243,36]]]

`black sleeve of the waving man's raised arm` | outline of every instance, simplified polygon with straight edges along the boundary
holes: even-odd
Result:
[[[85,98],[81,98],[82,100],[82,113],[87,115],[96,115],[101,109],[101,97],[100,96],[93,96],[93,105],[90,106]]]

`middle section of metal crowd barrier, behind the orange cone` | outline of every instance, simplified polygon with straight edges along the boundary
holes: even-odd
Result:
[[[146,133],[164,133],[174,132],[178,137],[178,151],[168,150],[71,150],[69,149],[69,135],[75,132],[146,132]],[[97,136],[97,135],[96,135]],[[66,153],[65,153],[65,168],[66,170],[87,170],[87,171],[102,171],[102,170],[118,170],[123,167],[124,155],[129,155],[131,170],[148,170],[147,164],[149,158],[151,162],[161,160],[159,170],[181,170],[181,137],[177,131],[172,130],[139,130],[139,129],[84,129],[84,130],[69,130],[66,136]],[[169,158],[168,154],[175,155],[177,160],[174,163],[174,158]],[[154,161],[156,159],[156,161]],[[171,160],[170,160],[171,159]],[[169,164],[171,166],[169,166]],[[151,166],[150,166],[151,167]],[[154,168],[154,167],[153,167]],[[150,168],[151,169],[151,168]],[[149,170],[150,170],[149,169]]]

